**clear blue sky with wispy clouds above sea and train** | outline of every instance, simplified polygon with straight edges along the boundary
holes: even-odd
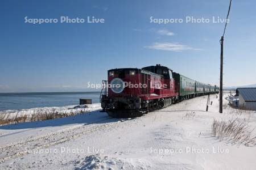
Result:
[[[1,1],[0,92],[81,91],[116,67],[160,63],[219,83],[220,36],[229,1]],[[255,1],[233,1],[224,40],[224,86],[256,83]],[[24,23],[104,18],[105,23]],[[150,23],[181,18],[183,23]],[[186,16],[210,23],[185,23]]]

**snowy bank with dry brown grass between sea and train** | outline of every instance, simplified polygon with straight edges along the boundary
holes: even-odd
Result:
[[[0,111],[0,125],[73,116],[101,109],[100,103]]]

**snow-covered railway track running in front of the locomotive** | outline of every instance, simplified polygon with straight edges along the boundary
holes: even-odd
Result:
[[[108,122],[109,120],[116,119],[107,117],[98,121],[90,122],[86,125],[72,126],[71,128],[55,131],[46,135],[40,135],[39,137],[0,146],[0,163],[9,159],[18,158],[19,156],[31,154],[32,150],[40,150],[42,148],[48,148],[60,143],[68,142],[71,139],[75,139],[101,129],[110,128],[119,123],[119,121]],[[98,125],[98,123],[102,123],[102,125]]]

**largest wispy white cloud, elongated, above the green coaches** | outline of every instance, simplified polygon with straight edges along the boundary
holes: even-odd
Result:
[[[183,52],[185,50],[201,50],[197,48],[192,48],[188,45],[179,44],[176,42],[155,42],[150,46],[145,46],[145,48],[156,49],[156,50],[167,50],[173,52]]]

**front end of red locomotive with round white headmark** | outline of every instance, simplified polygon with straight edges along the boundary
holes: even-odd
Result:
[[[138,116],[143,86],[140,76],[140,69],[108,70],[106,92],[101,97],[101,107],[109,116]]]

